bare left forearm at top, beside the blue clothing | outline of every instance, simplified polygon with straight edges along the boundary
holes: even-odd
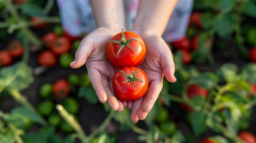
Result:
[[[97,27],[124,28],[123,0],[90,0]]]

